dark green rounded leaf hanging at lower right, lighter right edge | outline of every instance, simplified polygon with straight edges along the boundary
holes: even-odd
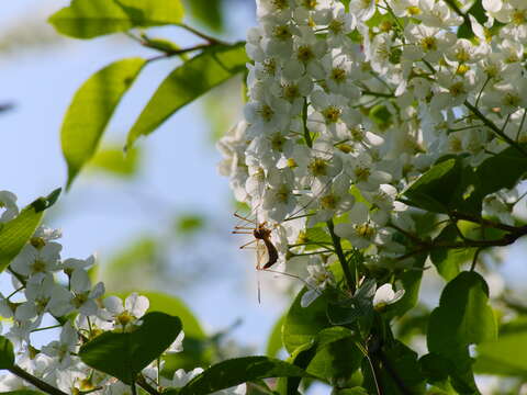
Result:
[[[475,272],[460,273],[447,284],[439,307],[431,312],[428,349],[448,357],[450,350],[494,340],[496,336],[485,280]]]

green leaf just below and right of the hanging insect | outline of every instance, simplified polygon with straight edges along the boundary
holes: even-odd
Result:
[[[326,316],[327,296],[318,296],[311,305],[302,307],[300,302],[305,292],[304,287],[296,295],[283,323],[282,342],[289,353],[310,343],[322,329],[332,326]]]

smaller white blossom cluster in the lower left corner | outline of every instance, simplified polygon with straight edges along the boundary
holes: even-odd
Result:
[[[19,212],[16,196],[0,191],[0,226],[15,218]],[[8,323],[3,330],[0,325],[0,335],[13,343],[15,363],[21,369],[67,394],[131,394],[130,385],[89,368],[77,353],[83,342],[103,331],[127,331],[139,326],[149,301],[137,293],[127,296],[124,304],[116,296],[103,297],[103,283],[93,285],[88,272],[94,257],[63,260],[63,246],[57,242],[60,236],[60,230],[40,227],[2,273],[11,276],[13,292],[9,295],[0,292],[0,319]],[[57,324],[44,326],[51,317]],[[58,339],[37,349],[32,334],[55,328],[60,329]],[[181,331],[165,353],[182,351],[183,336]],[[160,376],[161,370],[162,362],[155,361],[142,374],[150,386],[166,388],[182,386],[200,373],[178,370],[172,380],[167,380]],[[13,373],[0,372],[0,392],[19,390],[36,388]],[[221,394],[245,394],[245,385]]]

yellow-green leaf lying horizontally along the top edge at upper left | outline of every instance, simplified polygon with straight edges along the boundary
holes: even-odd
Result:
[[[182,18],[179,0],[72,0],[49,23],[64,35],[92,38],[132,27],[178,24]]]

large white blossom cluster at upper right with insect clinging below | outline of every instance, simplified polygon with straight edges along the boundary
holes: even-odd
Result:
[[[390,225],[413,229],[397,201],[406,187],[441,156],[467,153],[478,166],[527,142],[527,1],[484,0],[484,21],[444,0],[348,8],[257,0],[245,119],[218,143],[220,171],[277,228],[282,261],[306,228],[335,217],[335,233],[372,261],[402,256]],[[471,40],[457,36],[466,21]],[[502,203],[492,195],[484,210],[509,213]]]

